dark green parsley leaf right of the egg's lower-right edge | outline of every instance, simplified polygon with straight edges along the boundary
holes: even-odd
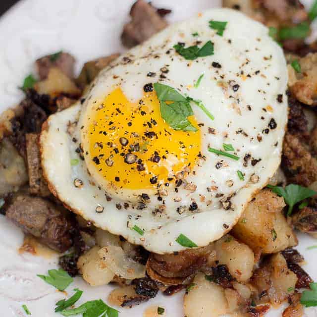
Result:
[[[295,204],[317,194],[314,190],[295,184],[290,184],[285,188],[272,185],[267,185],[267,187],[284,198],[285,204],[288,205],[287,215],[292,213]]]

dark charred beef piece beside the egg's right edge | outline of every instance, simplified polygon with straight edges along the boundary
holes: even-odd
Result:
[[[303,104],[290,94],[288,95],[288,132],[293,135],[307,135],[308,121],[303,110]]]

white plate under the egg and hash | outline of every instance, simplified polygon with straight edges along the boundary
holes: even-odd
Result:
[[[99,56],[122,52],[120,33],[128,19],[133,0],[22,0],[0,19],[0,112],[14,106],[23,97],[17,89],[32,71],[33,61],[40,56],[60,50],[77,58],[76,70]],[[310,2],[307,0],[306,2]],[[189,17],[220,0],[155,0],[158,7],[171,8],[170,22]],[[0,315],[25,316],[21,305],[26,304],[32,317],[55,317],[56,301],[65,298],[36,274],[45,274],[57,265],[57,258],[34,257],[17,249],[23,241],[21,231],[0,216]],[[299,234],[298,250],[304,255],[305,269],[317,280],[317,249],[307,250],[317,241]],[[90,287],[81,278],[68,288],[84,290],[78,305],[88,300],[106,301],[112,286]],[[158,295],[148,303],[131,310],[120,309],[120,317],[141,317],[146,308],[159,305],[168,317],[183,317],[183,293],[172,297]],[[271,310],[267,316],[281,316],[283,308]],[[59,315],[61,316],[61,315]],[[317,317],[317,309],[306,310],[307,317]]]

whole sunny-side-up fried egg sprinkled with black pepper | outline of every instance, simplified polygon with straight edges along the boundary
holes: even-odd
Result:
[[[210,21],[227,22],[222,35]],[[174,48],[208,41],[213,54],[194,59]],[[191,131],[163,119],[158,83],[199,101]],[[281,48],[245,15],[211,9],[171,25],[49,117],[40,138],[49,187],[71,211],[151,252],[206,246],[280,163],[286,85]]]

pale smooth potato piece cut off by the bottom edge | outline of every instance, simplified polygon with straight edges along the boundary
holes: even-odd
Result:
[[[194,287],[184,295],[186,317],[217,317],[228,312],[228,303],[224,289],[206,280],[198,273],[193,281]]]

